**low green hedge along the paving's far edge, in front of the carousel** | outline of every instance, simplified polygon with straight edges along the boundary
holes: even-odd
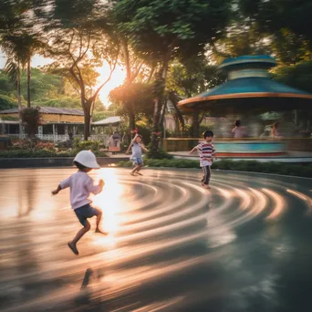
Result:
[[[199,168],[198,161],[189,160],[151,160],[145,159],[147,167],[166,168]],[[120,161],[119,167],[131,167],[131,161]],[[238,172],[263,172],[276,173],[312,178],[312,163],[283,163],[283,162],[259,162],[259,161],[216,161],[212,169],[231,170]]]

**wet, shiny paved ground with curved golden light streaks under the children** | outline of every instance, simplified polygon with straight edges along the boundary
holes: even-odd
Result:
[[[77,257],[68,192],[50,196],[72,172],[1,171],[1,311],[312,310],[311,180],[104,169],[110,235]]]

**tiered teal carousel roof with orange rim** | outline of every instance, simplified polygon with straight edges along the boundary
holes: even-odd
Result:
[[[287,110],[312,109],[312,95],[270,79],[268,69],[276,66],[269,56],[244,56],[225,59],[218,67],[227,72],[221,86],[179,102],[181,109]]]

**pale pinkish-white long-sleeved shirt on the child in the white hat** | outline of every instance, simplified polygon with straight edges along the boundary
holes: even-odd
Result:
[[[62,190],[70,188],[70,204],[73,209],[91,203],[88,199],[90,193],[98,194],[101,191],[101,187],[94,185],[92,178],[86,172],[76,172],[59,185]]]

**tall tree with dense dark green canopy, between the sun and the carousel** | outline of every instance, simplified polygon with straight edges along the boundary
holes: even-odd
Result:
[[[164,89],[169,63],[174,55],[203,53],[204,44],[222,33],[229,16],[229,1],[216,0],[121,0],[115,6],[120,31],[131,46],[160,64],[155,82],[152,149],[161,127]]]

